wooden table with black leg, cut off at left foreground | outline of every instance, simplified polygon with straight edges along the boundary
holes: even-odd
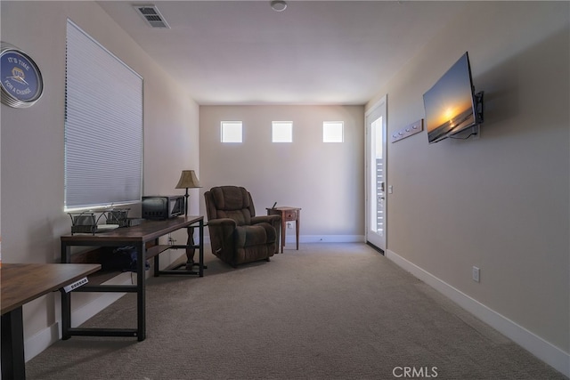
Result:
[[[2,264],[2,378],[26,378],[22,305],[100,268],[99,264]]]

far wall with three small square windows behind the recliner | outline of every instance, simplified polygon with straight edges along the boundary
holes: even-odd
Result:
[[[200,206],[214,186],[243,186],[256,214],[274,202],[301,207],[300,241],[362,241],[363,114],[362,106],[200,106]],[[243,122],[243,143],[220,142],[223,120]],[[340,120],[345,141],[322,142],[322,122]],[[273,143],[272,121],[292,121],[293,142]]]

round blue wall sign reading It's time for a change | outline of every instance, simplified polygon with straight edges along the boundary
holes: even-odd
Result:
[[[2,102],[10,107],[30,107],[44,92],[44,81],[36,62],[4,42],[0,51],[0,80]]]

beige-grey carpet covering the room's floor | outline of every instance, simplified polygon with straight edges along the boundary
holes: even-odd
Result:
[[[73,336],[28,379],[566,378],[364,244],[206,261],[201,279],[147,281],[143,342]],[[135,327],[135,308],[125,295],[85,327]]]

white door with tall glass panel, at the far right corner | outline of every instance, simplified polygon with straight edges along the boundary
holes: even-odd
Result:
[[[386,96],[366,112],[366,241],[386,249]]]

